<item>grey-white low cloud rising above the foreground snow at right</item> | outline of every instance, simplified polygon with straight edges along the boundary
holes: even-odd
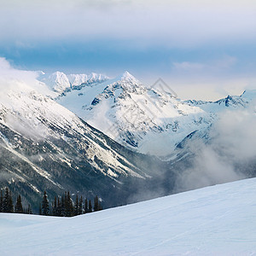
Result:
[[[177,180],[177,190],[250,177],[248,173],[256,171],[255,137],[255,103],[248,109],[222,113],[212,126],[210,143],[202,140],[189,143],[195,158],[192,166]]]

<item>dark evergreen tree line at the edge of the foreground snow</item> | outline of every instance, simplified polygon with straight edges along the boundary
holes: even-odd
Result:
[[[51,203],[49,203],[48,195],[46,191],[44,191],[42,201],[39,203],[39,214],[46,216],[72,217],[101,210],[102,204],[97,195],[92,205],[90,200],[85,198],[83,201],[83,197],[79,197],[79,195],[76,195],[76,199],[73,201],[69,191],[61,196],[55,196],[54,201]],[[24,207],[20,195],[17,196],[14,205],[11,191],[9,188],[5,188],[4,194],[2,190],[0,192],[0,212],[32,214],[32,207],[30,204],[28,207]]]

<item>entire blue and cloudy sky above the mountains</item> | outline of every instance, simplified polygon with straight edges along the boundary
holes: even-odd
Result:
[[[0,0],[0,38],[25,70],[127,70],[206,100],[256,89],[254,0]]]

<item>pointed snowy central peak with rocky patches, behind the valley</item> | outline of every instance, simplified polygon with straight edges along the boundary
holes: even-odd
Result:
[[[207,129],[224,109],[245,108],[251,99],[245,93],[217,102],[183,101],[125,72],[70,90],[56,101],[126,148],[163,157],[189,134]]]

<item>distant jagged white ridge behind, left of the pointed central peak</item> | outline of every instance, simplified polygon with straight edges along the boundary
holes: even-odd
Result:
[[[107,76],[102,74],[65,74],[62,72],[39,73],[38,80],[44,82],[51,90],[61,94],[68,90],[79,90],[86,84],[98,84],[108,80]]]

